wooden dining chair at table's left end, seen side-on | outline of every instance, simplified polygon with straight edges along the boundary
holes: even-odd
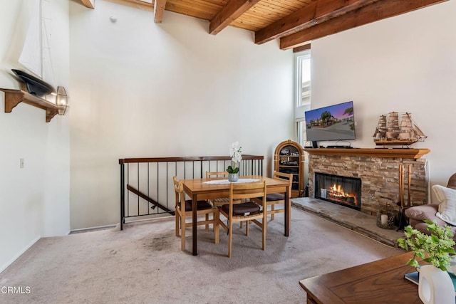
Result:
[[[176,236],[180,235],[181,249],[185,250],[185,229],[192,226],[192,221],[187,222],[187,217],[192,219],[192,200],[185,199],[184,187],[182,181],[177,177],[172,177],[174,190],[176,194]],[[212,219],[209,219],[212,214]],[[219,243],[219,209],[209,204],[208,201],[197,201],[197,216],[204,215],[203,221],[197,221],[197,225],[205,225],[209,230],[209,224],[213,224],[215,243]]]

